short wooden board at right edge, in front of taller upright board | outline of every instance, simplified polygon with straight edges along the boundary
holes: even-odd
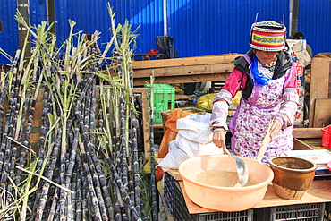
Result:
[[[315,101],[313,127],[326,127],[331,124],[331,98],[317,98]]]

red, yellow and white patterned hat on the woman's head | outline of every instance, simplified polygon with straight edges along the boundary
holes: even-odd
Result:
[[[262,51],[284,49],[286,27],[276,21],[261,21],[251,25],[250,47]]]

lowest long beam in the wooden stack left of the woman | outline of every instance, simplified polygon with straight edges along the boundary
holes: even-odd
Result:
[[[209,73],[209,74],[197,74],[197,75],[182,75],[182,76],[170,76],[170,77],[156,77],[155,84],[171,84],[171,83],[190,83],[190,82],[205,82],[205,81],[226,81],[230,72],[226,73]],[[146,78],[134,78],[133,85],[141,86],[150,83],[150,77]]]

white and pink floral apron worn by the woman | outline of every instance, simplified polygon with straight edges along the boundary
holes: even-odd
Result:
[[[283,76],[277,80],[269,80],[265,86],[254,86],[248,101],[241,99],[230,122],[233,153],[253,159],[257,157],[268,123],[279,113],[283,102],[284,81]],[[293,149],[292,132],[293,126],[281,130],[270,140],[263,163],[268,163],[269,157],[282,156],[284,151]]]

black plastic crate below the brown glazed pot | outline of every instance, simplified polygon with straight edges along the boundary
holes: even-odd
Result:
[[[255,208],[254,220],[316,220],[322,221],[325,203],[298,204],[272,208]]]

